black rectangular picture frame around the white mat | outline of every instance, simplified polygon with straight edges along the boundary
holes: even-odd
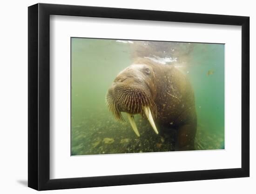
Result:
[[[242,167],[50,179],[50,15],[242,26]],[[52,190],[248,176],[249,17],[41,3],[28,7],[28,187]]]

